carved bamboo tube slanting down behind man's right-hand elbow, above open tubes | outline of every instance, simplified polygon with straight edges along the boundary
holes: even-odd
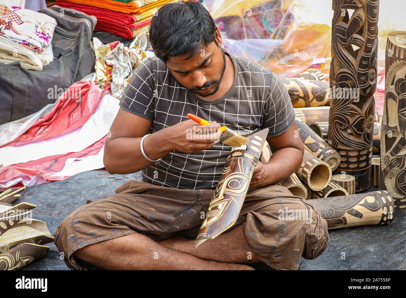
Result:
[[[331,170],[337,169],[341,162],[341,156],[336,150],[331,148],[321,137],[307,126],[306,123],[300,121],[296,117],[296,126],[298,127],[300,138],[306,150],[309,150],[315,157],[328,163]]]

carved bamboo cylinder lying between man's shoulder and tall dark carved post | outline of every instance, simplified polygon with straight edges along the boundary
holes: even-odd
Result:
[[[281,78],[293,107],[320,107],[329,105],[329,87],[326,81]]]

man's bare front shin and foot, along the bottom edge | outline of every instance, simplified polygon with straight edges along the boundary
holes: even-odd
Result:
[[[253,270],[174,251],[138,233],[88,245],[73,255],[106,270]]]

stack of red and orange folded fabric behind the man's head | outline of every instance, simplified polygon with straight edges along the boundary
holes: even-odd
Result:
[[[58,6],[76,9],[97,18],[95,30],[132,39],[148,30],[158,7],[174,0],[57,0]]]

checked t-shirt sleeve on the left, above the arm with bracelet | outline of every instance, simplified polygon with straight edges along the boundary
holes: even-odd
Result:
[[[153,75],[153,60],[147,59],[134,71],[120,100],[120,107],[147,118],[154,119],[155,78]]]

